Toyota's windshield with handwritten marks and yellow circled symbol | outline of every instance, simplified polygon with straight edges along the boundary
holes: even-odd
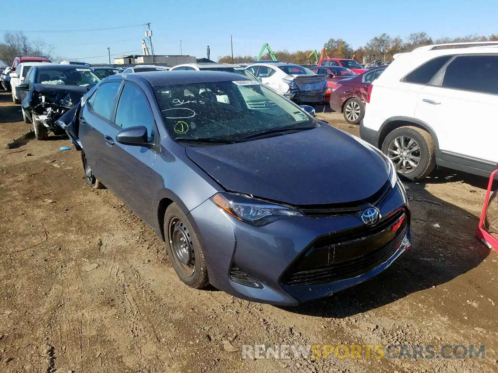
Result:
[[[259,82],[210,82],[155,87],[169,134],[179,141],[238,141],[246,136],[316,125],[299,106]]]

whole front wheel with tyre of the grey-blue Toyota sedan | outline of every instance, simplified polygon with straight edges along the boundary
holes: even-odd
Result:
[[[204,249],[176,203],[166,209],[163,228],[168,255],[180,280],[195,289],[209,284]]]

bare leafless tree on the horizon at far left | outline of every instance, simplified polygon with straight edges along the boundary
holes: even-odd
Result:
[[[29,40],[22,31],[5,32],[0,43],[0,60],[10,64],[19,55],[50,58],[53,49],[43,40]]]

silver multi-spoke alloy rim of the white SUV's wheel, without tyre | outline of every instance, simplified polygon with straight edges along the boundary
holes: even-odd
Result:
[[[396,172],[409,174],[420,166],[420,146],[410,136],[398,136],[389,144],[387,157],[394,164]]]

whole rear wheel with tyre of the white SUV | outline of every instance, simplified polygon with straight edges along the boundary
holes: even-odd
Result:
[[[382,143],[384,153],[394,164],[398,175],[419,180],[436,167],[436,147],[429,132],[414,126],[391,131]]]

